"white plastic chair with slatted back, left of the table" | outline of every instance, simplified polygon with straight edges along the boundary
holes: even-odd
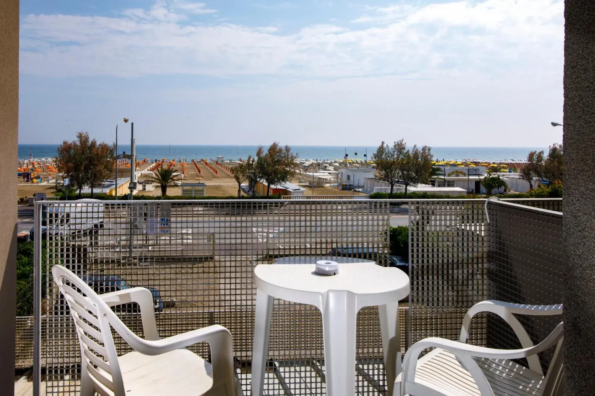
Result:
[[[151,291],[143,287],[98,295],[60,265],[54,281],[70,307],[82,354],[81,396],[242,395],[233,373],[231,334],[223,326],[160,338]],[[78,290],[77,290],[78,289]],[[145,339],[138,337],[109,308],[139,304]],[[134,349],[118,356],[111,328]],[[212,364],[187,347],[208,342]]]

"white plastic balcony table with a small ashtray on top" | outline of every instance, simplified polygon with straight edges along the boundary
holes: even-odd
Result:
[[[311,262],[311,261],[309,261]],[[252,395],[264,385],[273,297],[311,304],[322,313],[326,386],[329,396],[355,392],[357,315],[378,306],[384,367],[389,395],[401,370],[399,300],[409,294],[409,278],[397,268],[366,263],[339,263],[339,274],[321,276],[315,264],[261,264],[254,269],[256,319],[252,351]]]

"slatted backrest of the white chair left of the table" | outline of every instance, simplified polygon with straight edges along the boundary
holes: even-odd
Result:
[[[100,395],[124,395],[118,355],[107,319],[112,314],[111,309],[86,282],[63,266],[52,267],[52,274],[74,319],[83,360],[81,375],[93,382],[95,392]]]

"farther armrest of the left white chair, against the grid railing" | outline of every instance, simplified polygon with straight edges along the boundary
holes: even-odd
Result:
[[[140,318],[143,323],[143,332],[146,340],[159,340],[157,323],[155,322],[155,303],[151,291],[144,287],[112,291],[99,295],[99,298],[109,306],[137,303],[140,308]]]

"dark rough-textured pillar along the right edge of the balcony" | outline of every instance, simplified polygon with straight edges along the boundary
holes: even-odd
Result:
[[[565,1],[565,394],[595,392],[595,1]]]

